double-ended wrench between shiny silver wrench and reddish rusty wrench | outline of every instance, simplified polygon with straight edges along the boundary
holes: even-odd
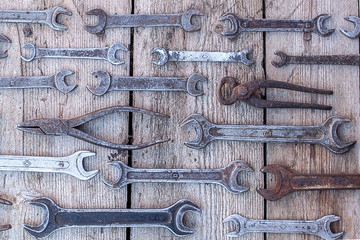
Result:
[[[249,190],[238,182],[241,171],[253,172],[244,161],[234,161],[220,169],[140,169],[128,167],[121,161],[109,163],[119,170],[115,182],[104,181],[113,188],[122,188],[131,183],[215,183],[222,185],[229,192],[239,194]]]

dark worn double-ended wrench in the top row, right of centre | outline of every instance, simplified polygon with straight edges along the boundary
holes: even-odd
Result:
[[[324,21],[331,16],[321,14],[312,20],[280,20],[241,18],[233,13],[224,14],[219,21],[229,20],[231,30],[222,32],[227,38],[235,38],[241,32],[304,32],[316,33],[322,37],[331,35],[335,29],[327,29]],[[309,35],[309,39],[310,40]]]

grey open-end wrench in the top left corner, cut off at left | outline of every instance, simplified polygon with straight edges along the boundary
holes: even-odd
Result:
[[[58,22],[60,14],[72,15],[66,8],[58,6],[43,11],[0,10],[0,23],[39,23],[63,31],[67,27]]]

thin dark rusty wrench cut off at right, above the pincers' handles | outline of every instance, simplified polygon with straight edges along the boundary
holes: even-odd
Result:
[[[272,61],[274,67],[283,67],[288,64],[332,64],[332,65],[357,65],[360,66],[360,55],[313,55],[289,56],[284,52],[274,53],[280,57],[279,61]]]

